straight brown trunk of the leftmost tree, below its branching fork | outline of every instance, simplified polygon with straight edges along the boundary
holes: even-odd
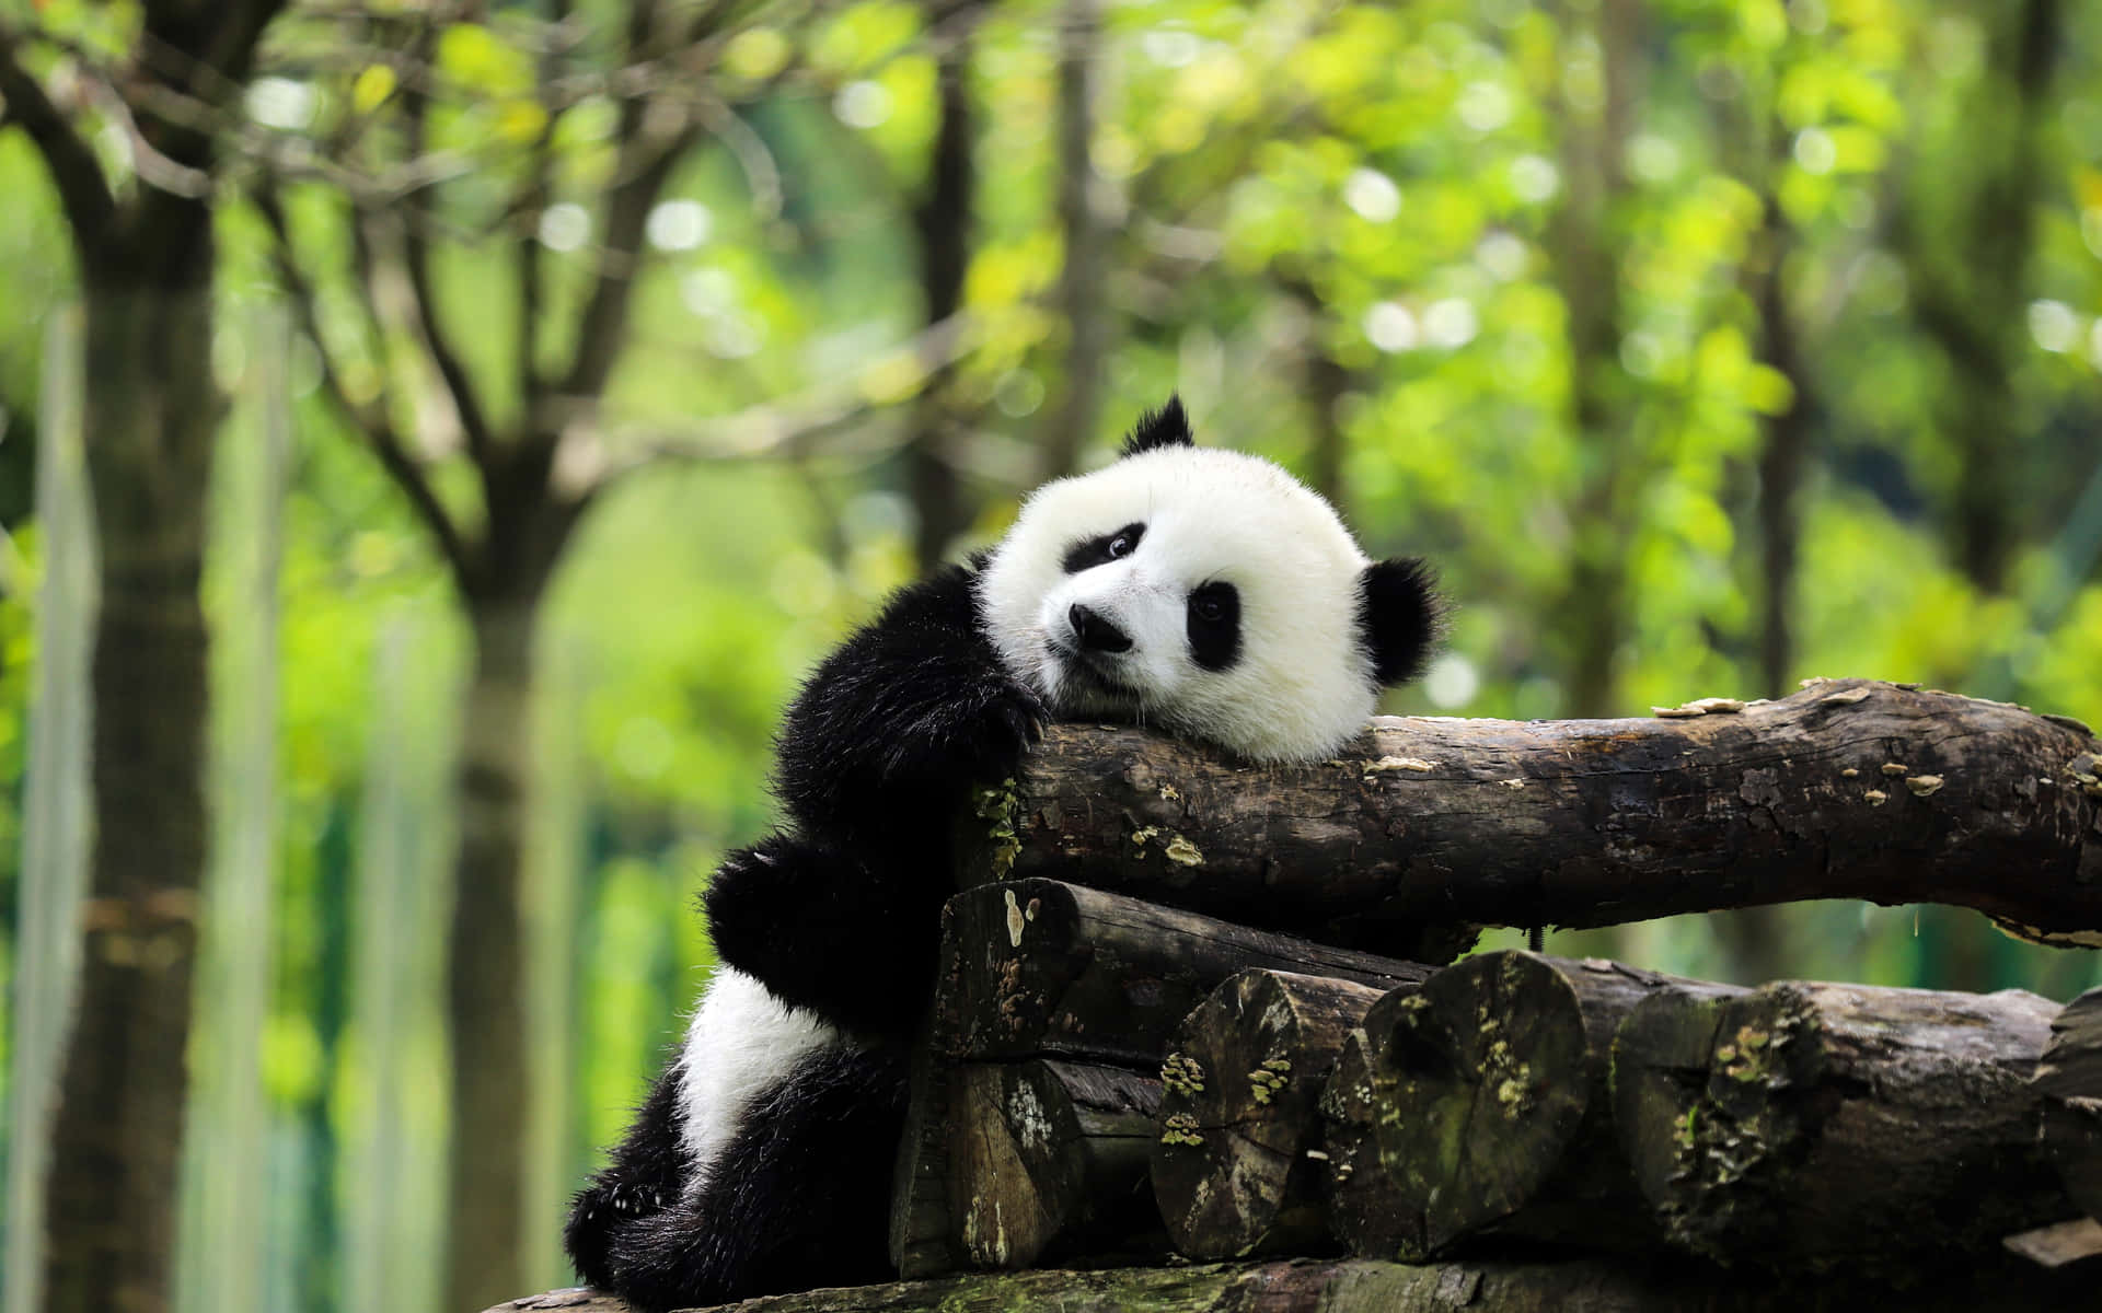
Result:
[[[44,1307],[168,1298],[204,876],[206,630],[198,599],[219,395],[210,212],[168,269],[86,269],[84,433],[101,548],[95,857],[82,985],[46,1181]],[[187,237],[187,239],[185,239]]]

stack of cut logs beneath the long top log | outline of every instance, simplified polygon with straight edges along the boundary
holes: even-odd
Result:
[[[1907,1279],[2102,1183],[2102,992],[1429,971],[1053,880],[946,931],[906,1275],[1673,1250]]]

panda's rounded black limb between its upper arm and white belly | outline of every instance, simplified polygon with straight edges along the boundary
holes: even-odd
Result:
[[[944,874],[898,874],[774,834],[723,859],[702,908],[717,958],[782,1002],[849,1031],[904,1038],[927,1006]]]

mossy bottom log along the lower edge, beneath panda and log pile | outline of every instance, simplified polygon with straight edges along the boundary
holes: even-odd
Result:
[[[540,1302],[553,1300],[553,1302]],[[586,1302],[576,1302],[586,1300]],[[933,1281],[889,1281],[769,1294],[715,1313],[1976,1313],[1978,1309],[2085,1309],[2094,1275],[2081,1265],[2045,1271],[1986,1260],[1928,1286],[1894,1292],[1856,1281],[1776,1284],[1768,1277],[1673,1263],[1436,1263],[1371,1258],[1217,1263],[1190,1267],[1040,1269]],[[624,1313],[589,1290],[511,1300],[488,1313]],[[700,1313],[700,1311],[696,1311]]]

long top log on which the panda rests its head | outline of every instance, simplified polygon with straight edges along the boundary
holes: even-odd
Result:
[[[1055,725],[967,821],[961,878],[1055,872],[1398,956],[1434,922],[1827,897],[2102,945],[2098,752],[2077,721],[1852,679],[1648,721],[1379,718],[1303,767]]]

